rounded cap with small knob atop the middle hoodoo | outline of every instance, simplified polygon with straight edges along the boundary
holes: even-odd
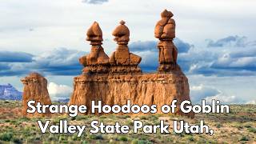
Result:
[[[130,30],[128,29],[128,27],[125,25],[126,22],[121,21],[120,25],[117,26],[112,35],[114,35],[114,41],[117,42],[129,42],[129,37],[130,37]]]

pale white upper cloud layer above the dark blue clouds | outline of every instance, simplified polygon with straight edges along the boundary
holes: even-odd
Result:
[[[32,50],[33,54],[58,46],[83,50],[86,47],[85,31],[92,22],[100,23],[104,38],[113,39],[111,32],[121,19],[130,28],[131,41],[155,40],[154,25],[164,9],[173,11],[177,22],[177,36],[187,42],[202,41],[209,38],[209,34],[211,38],[230,34],[255,37],[256,11],[253,0],[110,0],[104,2],[104,5],[89,5],[82,1],[2,0],[0,18],[4,21],[0,26],[1,48],[29,53]],[[110,45],[106,47],[106,50],[111,49]]]

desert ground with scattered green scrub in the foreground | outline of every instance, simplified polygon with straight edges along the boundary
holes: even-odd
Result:
[[[230,105],[230,114],[196,114],[194,119],[177,115],[78,115],[70,118],[67,115],[54,115],[50,118],[22,118],[22,104],[18,101],[0,101],[0,143],[255,143],[256,142],[256,106]],[[133,126],[133,120],[141,120],[145,124],[158,124],[160,120],[172,123],[174,120],[185,120],[197,124],[200,120],[214,129],[209,134],[42,134],[37,120],[50,119],[58,123],[67,119],[76,125],[90,125],[93,120],[114,124],[121,122]]]

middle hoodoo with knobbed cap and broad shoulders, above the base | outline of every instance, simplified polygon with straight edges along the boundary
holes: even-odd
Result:
[[[142,70],[138,64],[142,58],[129,51],[127,45],[130,41],[130,30],[125,23],[121,21],[120,25],[113,32],[114,41],[118,43],[118,47],[110,56],[110,73],[141,73]]]

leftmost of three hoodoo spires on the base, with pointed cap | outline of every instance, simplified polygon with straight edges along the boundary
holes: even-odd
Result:
[[[90,54],[79,58],[79,62],[85,66],[83,72],[88,73],[107,73],[109,57],[102,47],[102,29],[98,26],[98,22],[94,22],[87,30],[87,41],[90,41]]]

